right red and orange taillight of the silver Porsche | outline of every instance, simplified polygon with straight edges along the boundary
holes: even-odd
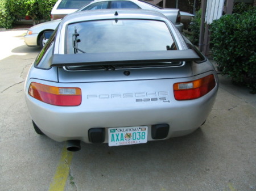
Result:
[[[191,82],[174,84],[174,97],[176,100],[192,100],[204,96],[216,86],[214,75],[197,79]]]

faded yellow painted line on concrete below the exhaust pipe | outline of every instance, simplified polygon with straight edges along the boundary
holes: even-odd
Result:
[[[48,191],[63,191],[65,189],[65,184],[68,179],[72,158],[73,152],[67,151],[66,147],[64,146],[59,164],[56,168],[55,175],[49,186]]]

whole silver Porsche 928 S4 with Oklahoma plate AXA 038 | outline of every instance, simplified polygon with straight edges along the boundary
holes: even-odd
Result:
[[[192,133],[207,119],[218,78],[159,12],[95,10],[66,16],[27,75],[38,134],[133,145]]]

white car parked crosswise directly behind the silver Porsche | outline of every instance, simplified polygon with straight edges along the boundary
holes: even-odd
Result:
[[[64,0],[63,0],[64,1]],[[65,0],[67,1],[67,0]],[[59,2],[59,1],[58,1]],[[57,4],[57,3],[56,3]],[[55,8],[53,8],[55,9]],[[180,32],[183,31],[183,24],[180,23],[180,11],[179,9],[163,9],[142,0],[100,0],[93,1],[79,10],[73,9],[73,11],[85,11],[96,9],[144,9],[153,10],[164,14],[172,23],[175,24]],[[63,15],[65,16],[65,15]],[[52,20],[50,22],[38,24],[31,27],[27,31],[27,35],[24,36],[24,41],[28,46],[44,46],[43,33],[46,31],[54,31],[60,23],[61,19]]]

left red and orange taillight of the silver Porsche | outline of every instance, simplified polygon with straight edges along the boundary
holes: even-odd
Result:
[[[58,106],[77,106],[81,104],[81,89],[77,87],[54,87],[32,82],[28,95],[44,103]]]

